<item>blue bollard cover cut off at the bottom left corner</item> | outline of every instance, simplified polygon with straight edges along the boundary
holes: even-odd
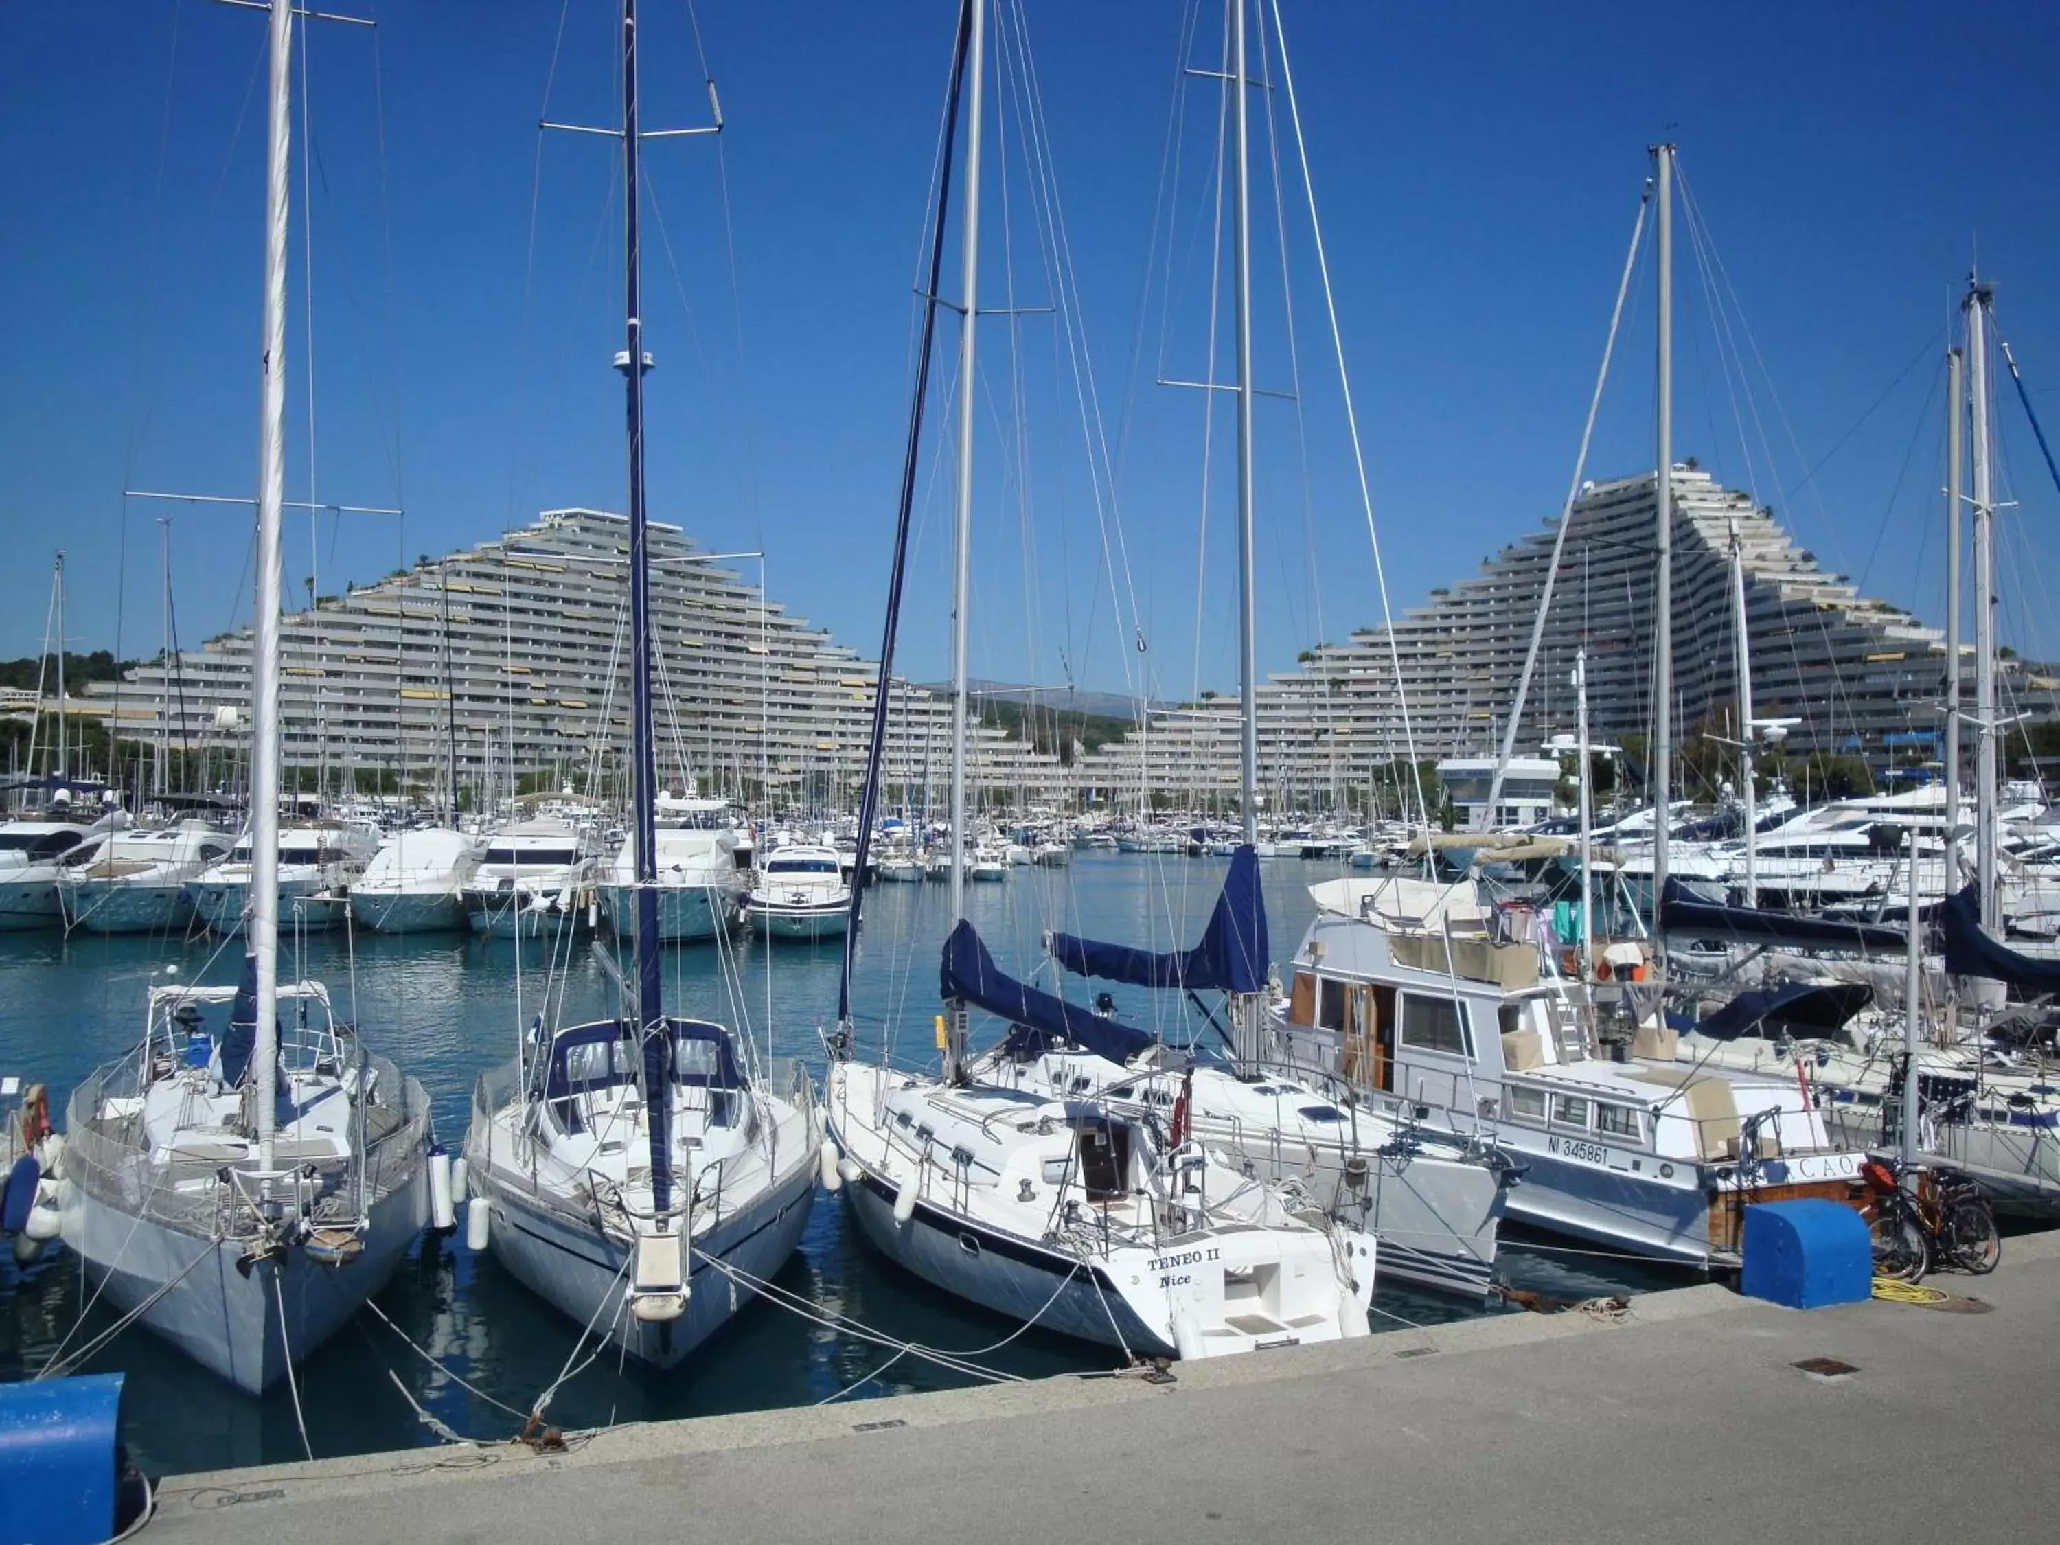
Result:
[[[115,1533],[122,1374],[0,1384],[0,1539],[99,1545]]]

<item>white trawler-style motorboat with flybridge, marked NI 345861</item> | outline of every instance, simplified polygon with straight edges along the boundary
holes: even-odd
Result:
[[[1333,880],[1310,896],[1279,1053],[1397,1121],[1496,1143],[1524,1166],[1510,1217],[1732,1267],[1747,1205],[1854,1199],[1866,1154],[1794,1077],[1681,1067],[1650,1020],[1623,1026],[1632,1055],[1605,1055],[1584,989],[1541,974],[1537,943],[1500,941],[1471,888]]]

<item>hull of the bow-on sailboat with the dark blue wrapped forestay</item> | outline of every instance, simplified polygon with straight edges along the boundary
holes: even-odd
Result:
[[[494,1187],[490,1195],[488,1248],[509,1275],[579,1325],[593,1323],[599,1312],[610,1341],[655,1368],[672,1368],[756,1296],[742,1283],[733,1285],[705,1257],[713,1255],[752,1277],[772,1277],[801,1242],[816,1201],[816,1166],[797,1166],[758,1203],[692,1240],[686,1312],[663,1325],[634,1318],[624,1304],[622,1240],[534,1207],[519,1193]],[[614,1306],[604,1306],[604,1300]]]

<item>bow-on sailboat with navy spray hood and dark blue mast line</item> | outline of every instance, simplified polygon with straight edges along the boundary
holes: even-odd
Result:
[[[793,1255],[816,1197],[822,1131],[808,1075],[752,1067],[713,1020],[665,1011],[645,521],[637,0],[622,0],[624,299],[628,346],[634,830],[628,1014],[531,1028],[480,1077],[466,1135],[468,1238],[573,1320],[670,1368]]]

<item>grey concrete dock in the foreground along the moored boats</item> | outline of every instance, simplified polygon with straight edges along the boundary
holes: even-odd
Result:
[[[1160,1386],[1055,1378],[620,1428],[566,1454],[181,1475],[144,1539],[2052,1539],[2060,1232],[1932,1285],[1986,1312],[1685,1288],[1617,1320],[1469,1320]],[[1796,1368],[1815,1358],[1852,1372]]]

